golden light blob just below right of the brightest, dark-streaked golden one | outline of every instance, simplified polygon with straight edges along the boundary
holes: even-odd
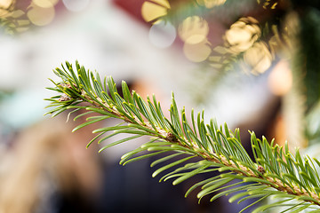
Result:
[[[244,61],[252,67],[252,74],[259,75],[271,66],[272,55],[266,43],[257,42],[244,52]]]

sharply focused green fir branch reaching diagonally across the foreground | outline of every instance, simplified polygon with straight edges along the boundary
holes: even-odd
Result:
[[[152,99],[148,97],[146,101],[135,91],[129,91],[128,86],[123,82],[124,97],[121,97],[116,91],[116,83],[112,77],[105,77],[101,82],[98,73],[93,74],[85,70],[77,61],[76,72],[68,62],[66,67],[62,66],[62,69],[54,70],[61,82],[52,81],[55,87],[49,89],[59,92],[60,95],[47,99],[51,102],[49,107],[53,107],[48,114],[54,116],[68,109],[73,109],[72,112],[78,109],[86,110],[75,119],[92,112],[100,114],[87,118],[87,121],[75,130],[109,117],[124,121],[113,127],[93,130],[93,133],[99,134],[89,142],[88,146],[108,132],[112,133],[100,138],[98,143],[121,133],[131,133],[133,136],[108,144],[100,151],[133,138],[152,137],[148,143],[124,154],[120,163],[126,164],[167,153],[169,155],[151,164],[151,166],[164,165],[153,173],[153,177],[166,172],[160,181],[174,178],[173,185],[180,184],[196,174],[219,170],[221,172],[219,176],[197,183],[186,193],[187,196],[196,187],[202,185],[201,191],[197,194],[199,201],[205,195],[222,191],[215,194],[212,201],[232,193],[236,194],[231,196],[229,201],[240,199],[238,202],[241,202],[252,197],[259,197],[258,201],[263,201],[270,196],[279,198],[272,204],[256,209],[257,212],[283,205],[294,212],[320,206],[320,178],[316,171],[320,163],[316,159],[308,156],[302,158],[299,151],[292,154],[287,145],[280,147],[274,145],[274,141],[269,144],[266,138],[260,140],[255,137],[254,132],[250,132],[254,155],[252,160],[241,144],[239,130],[232,132],[227,124],[220,126],[213,119],[205,124],[204,112],[196,114],[195,117],[192,111],[190,124],[185,109],[183,108],[181,112],[178,110],[173,95],[169,119],[164,116],[155,96]],[[86,103],[85,106],[80,105],[83,102]],[[144,151],[148,151],[147,154],[143,153]],[[171,163],[167,162],[181,154],[183,158]],[[201,160],[189,161],[195,158]],[[178,168],[172,170],[176,166]],[[228,185],[233,180],[240,182]],[[241,185],[242,183],[247,185]],[[230,188],[231,186],[235,188]],[[244,191],[239,193],[240,190]]]

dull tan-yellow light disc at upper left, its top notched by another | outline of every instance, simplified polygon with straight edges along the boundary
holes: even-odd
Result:
[[[55,15],[54,7],[44,8],[31,4],[28,19],[36,26],[45,26],[52,22]]]

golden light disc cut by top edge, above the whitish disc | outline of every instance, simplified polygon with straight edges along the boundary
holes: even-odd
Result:
[[[170,4],[166,0],[146,1],[142,4],[141,15],[145,21],[149,22],[166,15],[168,9],[170,9]]]

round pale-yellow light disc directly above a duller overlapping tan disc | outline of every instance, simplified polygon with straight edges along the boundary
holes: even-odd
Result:
[[[199,16],[190,16],[183,20],[178,28],[178,34],[185,43],[202,43],[209,33],[208,22]]]

